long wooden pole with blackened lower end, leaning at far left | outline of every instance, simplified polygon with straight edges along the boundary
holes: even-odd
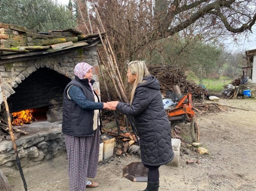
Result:
[[[3,84],[3,81],[2,81],[1,74],[0,74],[0,84],[1,84],[1,89],[2,89],[2,96],[3,96],[4,102],[5,102],[5,108],[6,108],[7,119],[8,119],[8,127],[9,127],[9,132],[10,132],[10,135],[11,135],[11,138],[12,138],[12,144],[13,144],[14,154],[15,154],[15,157],[16,157],[16,163],[17,163],[18,168],[19,168],[20,176],[22,177],[22,181],[23,181],[25,191],[28,191],[26,180],[25,180],[25,177],[24,177],[24,174],[23,174],[23,171],[22,171],[22,167],[20,165],[20,160],[19,160],[19,155],[18,155],[18,151],[17,151],[16,142],[15,142],[14,135],[13,135],[13,132],[12,132],[10,112],[9,112],[9,107],[8,107],[7,100],[6,100],[6,97],[5,97],[4,84]]]

